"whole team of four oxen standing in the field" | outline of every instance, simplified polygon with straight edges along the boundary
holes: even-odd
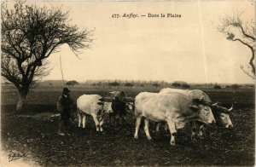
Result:
[[[166,129],[171,133],[171,145],[175,145],[175,135],[178,129],[185,124],[192,126],[191,139],[202,137],[202,129],[205,124],[217,123],[225,128],[233,127],[229,112],[233,109],[213,104],[209,96],[199,89],[161,89],[159,93],[141,92],[135,99],[125,95],[123,91],[109,92],[107,96],[81,95],[77,100],[79,127],[85,128],[86,115],[91,115],[96,124],[96,131],[103,131],[104,116],[109,114],[115,124],[124,122],[128,112],[134,112],[136,118],[136,130],[134,138],[138,137],[138,130],[144,118],[144,131],[148,138],[149,121],[158,122],[156,131],[160,129],[160,123],[166,123]]]

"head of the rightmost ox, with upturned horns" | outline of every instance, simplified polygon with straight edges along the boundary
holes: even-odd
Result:
[[[223,125],[225,128],[232,128],[233,124],[230,119],[230,112],[233,110],[233,105],[230,109],[219,107],[218,103],[212,104],[212,112],[215,114],[216,122]]]

